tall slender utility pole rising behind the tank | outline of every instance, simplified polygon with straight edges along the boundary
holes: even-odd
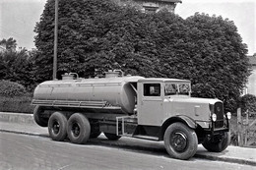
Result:
[[[58,8],[59,0],[55,0],[55,27],[54,27],[54,56],[53,56],[53,80],[57,78],[57,49],[58,49]]]

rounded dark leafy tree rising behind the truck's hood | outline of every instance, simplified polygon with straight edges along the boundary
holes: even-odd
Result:
[[[186,19],[184,37],[195,96],[218,97],[234,111],[250,75],[247,46],[233,22],[196,13]]]

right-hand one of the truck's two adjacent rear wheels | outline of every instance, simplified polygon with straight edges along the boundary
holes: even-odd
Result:
[[[81,113],[73,114],[68,120],[67,133],[71,142],[86,143],[91,135],[91,125],[87,117]]]

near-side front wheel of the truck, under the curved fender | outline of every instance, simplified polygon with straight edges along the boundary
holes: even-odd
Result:
[[[172,158],[186,160],[197,151],[198,139],[195,131],[179,122],[169,125],[163,141],[166,151]]]

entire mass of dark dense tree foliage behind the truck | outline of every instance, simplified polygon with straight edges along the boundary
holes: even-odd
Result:
[[[232,111],[250,74],[246,45],[222,17],[196,13],[183,20],[113,1],[62,0],[58,27],[58,78],[64,72],[94,77],[96,70],[122,69],[188,79],[194,96],[218,97]],[[54,0],[47,1],[34,31],[39,83],[52,75]]]

